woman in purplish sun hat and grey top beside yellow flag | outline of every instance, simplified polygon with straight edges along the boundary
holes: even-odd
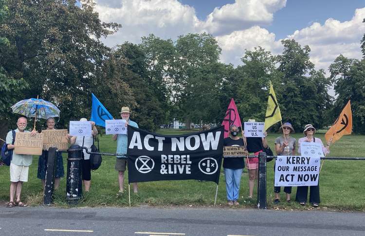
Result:
[[[289,122],[285,122],[279,131],[283,132],[283,135],[277,137],[275,140],[275,151],[278,156],[292,156],[295,155],[296,139],[290,136],[294,133],[294,128]],[[275,169],[275,166],[274,166]],[[290,194],[292,193],[292,187],[284,187],[286,193],[286,199],[290,202]],[[280,187],[274,187],[275,199],[274,203],[280,202]]]

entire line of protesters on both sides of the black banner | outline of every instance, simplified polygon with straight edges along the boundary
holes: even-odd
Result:
[[[130,109],[128,107],[122,107],[120,111],[120,116],[122,119],[126,120],[126,126],[130,125],[133,127],[138,127],[137,123],[131,121],[129,119]],[[87,121],[86,118],[81,118],[80,121]],[[249,120],[249,122],[255,122],[255,120]],[[98,130],[95,127],[95,123],[90,121],[92,128],[92,137],[86,136],[70,136],[68,134],[67,138],[69,143],[85,146],[91,151],[91,145],[93,144],[93,138],[98,134]],[[46,121],[47,129],[55,129],[55,119],[48,118]],[[17,129],[15,132],[29,132],[26,131],[27,127],[27,119],[25,117],[18,118]],[[209,126],[202,127],[203,130],[209,129]],[[290,123],[284,123],[282,127],[280,127],[280,131],[283,133],[282,136],[277,137],[275,140],[275,152],[277,155],[295,155],[297,141],[295,138],[290,135],[294,133],[294,129]],[[326,154],[329,152],[329,144],[325,147],[323,146],[322,141],[319,138],[314,138],[314,133],[316,129],[312,125],[306,125],[304,127],[304,137],[298,140],[299,148],[297,152],[300,154],[300,143],[301,142],[315,142],[319,143],[323,147],[323,152]],[[33,130],[31,135],[36,135],[37,131]],[[225,146],[245,146],[246,150],[249,153],[253,153],[254,155],[258,155],[259,152],[265,150],[268,146],[266,136],[267,133],[264,132],[263,138],[261,137],[245,137],[244,130],[242,130],[242,138],[238,137],[239,127],[233,125],[230,127],[230,136],[224,139]],[[115,170],[118,171],[118,182],[119,182],[119,191],[117,193],[118,196],[124,193],[124,172],[127,167],[127,135],[125,134],[115,134],[112,136],[112,140],[117,141],[117,150],[116,153],[120,154],[120,156],[116,156]],[[13,139],[13,130],[9,131],[6,136],[6,144],[9,150],[14,149],[14,139]],[[83,171],[82,171],[82,180],[85,186],[85,191],[90,190],[91,186],[91,165],[90,165],[90,154],[83,150]],[[13,158],[10,163],[10,201],[7,204],[7,207],[13,206],[27,206],[26,203],[22,202],[20,199],[21,189],[23,182],[28,181],[28,171],[29,166],[32,164],[32,155],[24,155],[24,154],[16,154],[13,153]],[[38,160],[38,171],[37,178],[41,180],[42,185],[45,185],[46,179],[46,168],[47,168],[47,159],[48,159],[48,151],[43,150],[42,155],[39,156]],[[55,159],[55,189],[59,187],[60,178],[64,177],[64,167],[63,167],[63,159],[62,154],[57,152]],[[239,186],[241,181],[241,175],[243,168],[246,166],[249,174],[249,196],[248,198],[252,199],[254,186],[257,179],[258,173],[258,158],[225,158],[223,161],[223,169],[224,176],[226,182],[226,192],[227,192],[227,200],[228,205],[239,205],[237,199],[239,197]],[[133,183],[133,191],[134,193],[138,192],[137,183]],[[292,187],[284,187],[284,192],[286,193],[286,200],[288,202],[291,201],[291,193]],[[275,199],[274,203],[278,203],[280,201],[280,187],[274,187]],[[297,188],[296,198],[295,200],[300,202],[301,205],[306,205],[308,195],[308,186],[300,186]],[[310,186],[310,203],[314,207],[317,207],[320,203],[319,199],[319,186]]]

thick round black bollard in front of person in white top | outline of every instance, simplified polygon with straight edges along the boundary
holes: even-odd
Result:
[[[77,204],[82,198],[82,148],[72,145],[67,152],[66,200],[69,204]]]

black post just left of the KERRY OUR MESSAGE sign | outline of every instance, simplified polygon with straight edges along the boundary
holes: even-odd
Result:
[[[266,207],[266,152],[259,153],[260,165],[258,167],[257,180],[257,207],[267,209]]]

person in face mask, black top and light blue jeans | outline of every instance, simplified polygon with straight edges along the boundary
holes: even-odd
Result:
[[[238,127],[233,125],[229,128],[230,135],[223,141],[224,146],[244,146],[243,139],[239,138]],[[226,181],[228,205],[239,205],[239,185],[241,182],[242,170],[245,167],[243,157],[224,158],[223,170]]]

